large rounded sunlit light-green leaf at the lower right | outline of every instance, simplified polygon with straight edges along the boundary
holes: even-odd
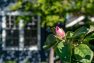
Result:
[[[93,58],[92,50],[85,44],[80,44],[74,49],[75,58],[82,63],[91,63]]]

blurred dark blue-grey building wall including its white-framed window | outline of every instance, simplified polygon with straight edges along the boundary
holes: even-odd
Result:
[[[0,0],[0,63],[41,63],[46,61],[42,49],[45,29],[40,27],[40,17],[31,12],[10,11],[16,0]],[[31,17],[29,22],[17,21],[19,16]],[[41,38],[42,37],[42,38]]]

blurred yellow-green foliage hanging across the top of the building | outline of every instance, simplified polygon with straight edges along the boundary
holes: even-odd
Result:
[[[18,0],[10,8],[38,14],[42,26],[54,26],[57,22],[64,22],[67,13],[94,15],[93,6],[94,0]]]

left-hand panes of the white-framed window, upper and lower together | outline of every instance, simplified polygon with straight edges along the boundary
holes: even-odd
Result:
[[[15,16],[6,16],[6,47],[19,46],[19,28],[15,23]]]

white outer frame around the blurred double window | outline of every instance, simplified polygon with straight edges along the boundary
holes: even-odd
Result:
[[[31,13],[32,14],[32,13]],[[6,23],[6,15],[8,16],[21,16],[21,15],[30,15],[30,12],[3,12],[0,14],[2,16],[2,48],[3,50],[39,50],[40,49],[40,16],[37,16],[37,44],[36,45],[32,45],[32,46],[29,46],[29,47],[21,47],[20,44],[22,44],[21,42],[19,42],[19,46],[18,47],[6,47],[5,46],[5,40],[3,39],[4,35],[4,31],[6,30],[6,26],[4,27],[3,25]],[[6,24],[5,24],[6,25]],[[5,38],[6,39],[6,38]],[[24,43],[23,43],[24,44]]]

